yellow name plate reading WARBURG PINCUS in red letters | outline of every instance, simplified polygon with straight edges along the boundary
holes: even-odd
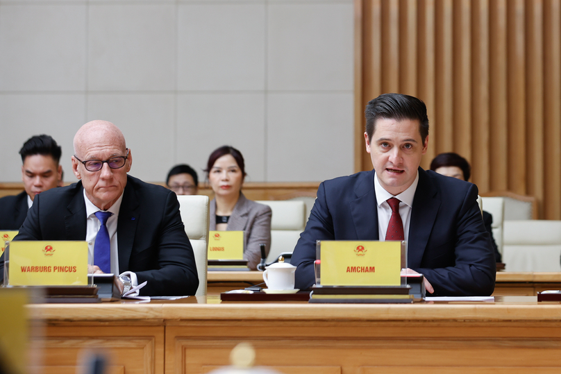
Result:
[[[87,241],[11,241],[12,286],[87,285]]]

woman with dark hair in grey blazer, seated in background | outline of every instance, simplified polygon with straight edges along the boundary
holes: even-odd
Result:
[[[246,176],[242,153],[231,146],[215,149],[208,158],[206,175],[215,198],[210,202],[210,230],[245,231],[244,259],[256,269],[261,259],[259,244],[271,246],[271,208],[242,194]]]

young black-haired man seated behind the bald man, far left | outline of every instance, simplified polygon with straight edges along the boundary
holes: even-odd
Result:
[[[35,196],[58,187],[62,181],[59,164],[62,148],[49,135],[29,138],[19,150],[22,155],[24,192],[0,198],[0,230],[19,230]]]

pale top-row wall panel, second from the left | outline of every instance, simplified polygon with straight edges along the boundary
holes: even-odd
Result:
[[[92,3],[89,10],[89,90],[174,90],[175,6]]]

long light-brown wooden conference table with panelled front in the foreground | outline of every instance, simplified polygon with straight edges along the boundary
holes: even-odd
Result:
[[[112,373],[208,373],[240,341],[281,373],[560,373],[561,303],[533,296],[412,305],[151,303],[30,305],[44,321],[41,373],[76,373],[105,348]]]

